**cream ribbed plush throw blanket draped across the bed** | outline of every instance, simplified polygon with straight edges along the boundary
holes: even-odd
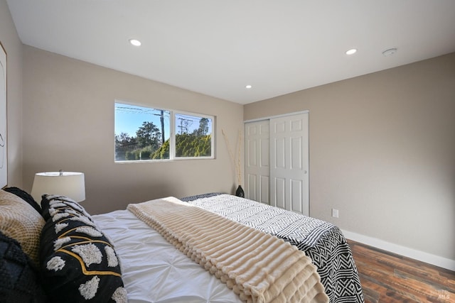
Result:
[[[127,209],[245,302],[328,302],[310,258],[275,236],[173,197]]]

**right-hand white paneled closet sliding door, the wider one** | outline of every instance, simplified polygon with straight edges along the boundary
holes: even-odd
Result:
[[[309,216],[309,114],[270,119],[270,204]]]

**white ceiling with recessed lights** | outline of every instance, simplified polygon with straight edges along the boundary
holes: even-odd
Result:
[[[240,104],[455,51],[455,0],[6,1],[26,45]]]

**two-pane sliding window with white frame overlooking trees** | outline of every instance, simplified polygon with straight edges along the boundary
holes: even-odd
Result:
[[[214,158],[213,116],[115,102],[115,161]]]

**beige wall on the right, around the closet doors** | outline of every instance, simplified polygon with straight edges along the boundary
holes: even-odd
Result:
[[[455,260],[455,53],[247,104],[244,116],[302,110],[311,216]]]

